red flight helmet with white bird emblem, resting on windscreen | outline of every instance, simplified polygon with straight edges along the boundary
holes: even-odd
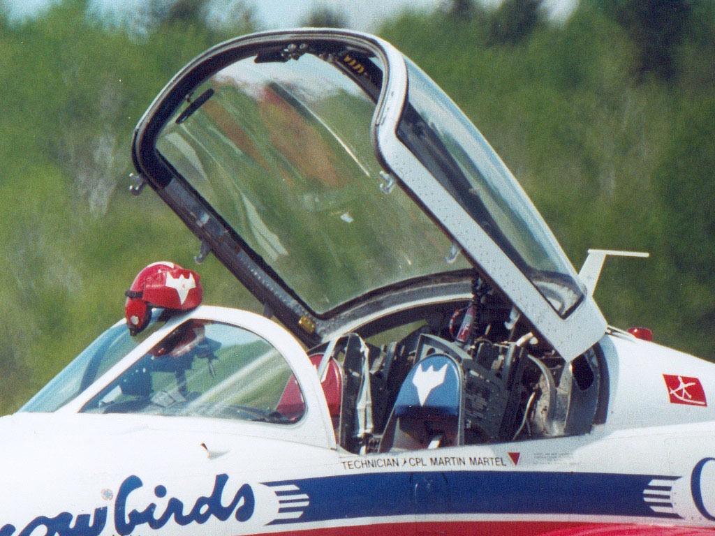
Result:
[[[203,289],[199,274],[173,262],[154,262],[134,278],[124,292],[124,312],[129,333],[136,335],[152,319],[152,307],[185,311],[201,304]]]

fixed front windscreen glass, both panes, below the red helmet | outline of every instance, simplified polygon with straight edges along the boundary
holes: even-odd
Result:
[[[295,380],[297,402],[290,411],[280,407],[293,374],[290,365],[270,342],[248,329],[189,318],[142,354],[134,352],[163,330],[168,318],[160,314],[143,337],[131,337],[124,324],[108,329],[20,411],[54,412],[89,397],[79,412],[283,425],[300,420],[305,404]],[[97,388],[90,397],[87,389]]]

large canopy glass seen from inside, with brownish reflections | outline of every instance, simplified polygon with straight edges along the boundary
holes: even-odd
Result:
[[[193,91],[159,154],[313,312],[468,268],[380,175],[375,103],[335,64],[247,58]],[[181,179],[179,179],[181,180]]]

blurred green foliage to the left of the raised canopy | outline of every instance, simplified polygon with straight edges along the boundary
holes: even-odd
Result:
[[[203,11],[108,21],[89,5],[64,0],[22,21],[0,11],[0,412],[121,317],[142,266],[191,265],[190,233],[158,199],[127,192],[132,129],[186,61],[251,29],[240,17],[209,27]],[[251,307],[222,270],[212,259],[202,267],[217,292],[207,300]]]

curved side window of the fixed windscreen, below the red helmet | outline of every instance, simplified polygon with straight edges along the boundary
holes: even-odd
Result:
[[[292,371],[257,334],[209,320],[184,322],[82,408],[291,424],[305,411],[280,401]]]

